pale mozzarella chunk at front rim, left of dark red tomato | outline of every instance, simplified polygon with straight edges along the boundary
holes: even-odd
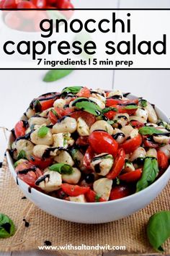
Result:
[[[102,178],[97,179],[93,184],[94,192],[105,200],[109,200],[109,195],[112,189],[112,179]]]

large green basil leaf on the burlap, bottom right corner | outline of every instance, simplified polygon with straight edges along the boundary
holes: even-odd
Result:
[[[148,221],[147,236],[156,251],[164,252],[161,245],[170,237],[170,211],[153,214]]]

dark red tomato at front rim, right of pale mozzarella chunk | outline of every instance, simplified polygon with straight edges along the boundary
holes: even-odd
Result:
[[[109,195],[109,200],[116,200],[122,197],[128,197],[130,195],[130,189],[127,185],[118,185],[113,187]]]

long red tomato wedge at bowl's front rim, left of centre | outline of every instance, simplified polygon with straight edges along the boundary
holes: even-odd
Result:
[[[89,191],[89,187],[80,187],[78,185],[70,185],[70,184],[61,184],[61,189],[67,195],[71,197],[77,197],[78,195],[84,195]]]

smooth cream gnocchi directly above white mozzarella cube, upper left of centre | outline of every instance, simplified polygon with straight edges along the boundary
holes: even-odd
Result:
[[[77,122],[76,119],[66,116],[60,122],[57,122],[52,129],[53,133],[60,133],[60,132],[76,132]]]

